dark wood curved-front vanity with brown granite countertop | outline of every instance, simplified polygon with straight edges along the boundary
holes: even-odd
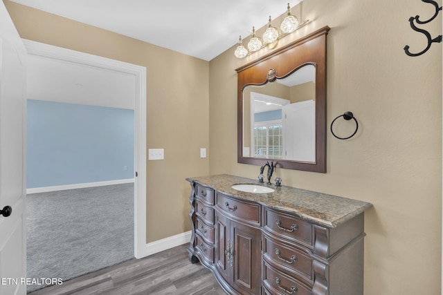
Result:
[[[363,294],[364,211],[372,204],[285,186],[237,191],[257,181],[226,174],[186,180],[189,258],[228,294]]]

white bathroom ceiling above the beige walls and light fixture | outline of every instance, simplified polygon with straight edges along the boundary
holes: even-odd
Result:
[[[209,61],[302,0],[12,0]]]

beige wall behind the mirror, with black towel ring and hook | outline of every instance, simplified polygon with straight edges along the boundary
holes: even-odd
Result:
[[[302,8],[310,23],[280,45],[331,28],[327,130],[345,111],[360,128],[350,140],[328,131],[327,173],[277,169],[275,176],[293,187],[374,204],[365,213],[365,294],[440,294],[442,44],[420,57],[403,50],[426,46],[409,17],[426,19],[435,10],[416,0],[305,0],[300,6],[293,14]],[[441,35],[442,13],[426,28]],[[255,178],[259,166],[237,164],[234,69],[257,55],[236,59],[234,49],[210,61],[210,173]]]

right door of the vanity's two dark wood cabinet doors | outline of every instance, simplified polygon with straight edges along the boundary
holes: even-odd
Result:
[[[230,221],[234,240],[234,288],[242,294],[260,294],[261,278],[261,231]]]

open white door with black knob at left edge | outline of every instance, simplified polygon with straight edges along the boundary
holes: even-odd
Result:
[[[26,49],[0,1],[0,294],[26,294]]]

